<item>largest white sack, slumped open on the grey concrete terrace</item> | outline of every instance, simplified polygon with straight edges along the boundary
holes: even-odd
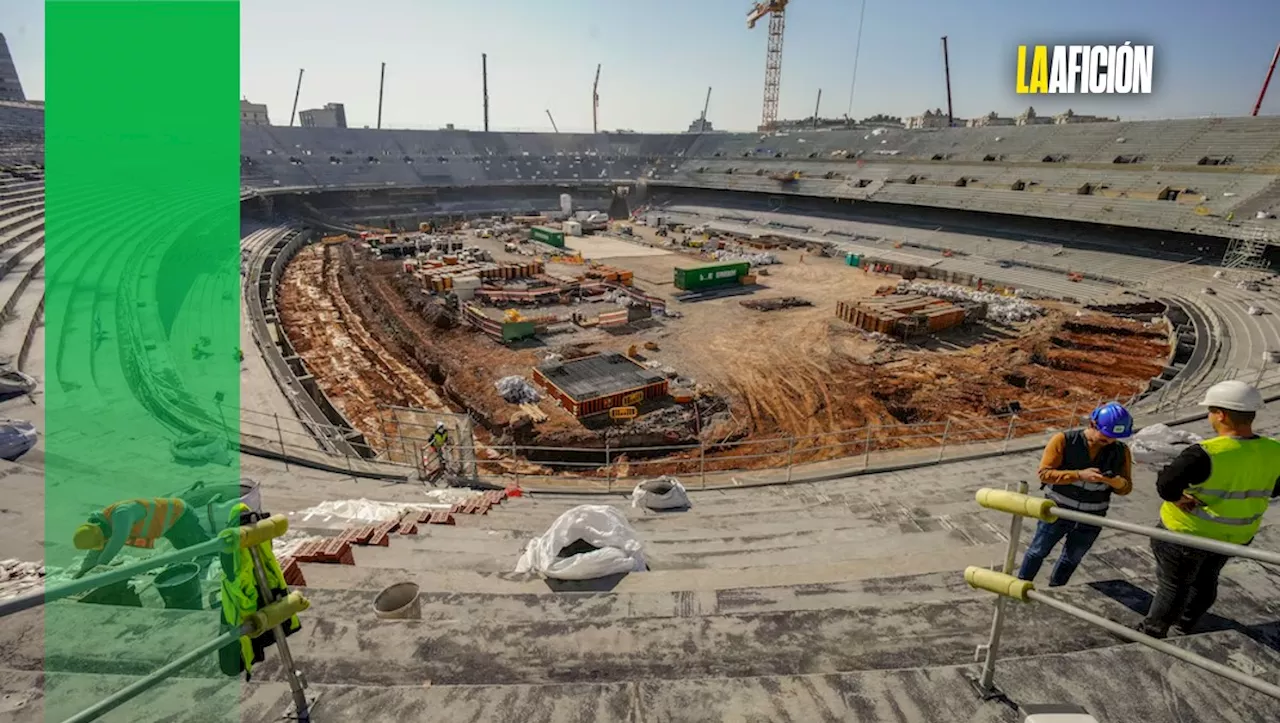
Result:
[[[559,557],[576,541],[595,550]],[[617,509],[604,504],[580,504],[556,518],[540,536],[525,545],[516,572],[536,572],[556,580],[594,580],[645,569],[644,550],[635,530]]]

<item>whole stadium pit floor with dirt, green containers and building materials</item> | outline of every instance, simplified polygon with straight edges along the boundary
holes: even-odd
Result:
[[[607,444],[648,473],[681,470],[680,445],[705,445],[710,468],[856,454],[868,426],[878,448],[936,445],[931,424],[980,441],[1001,416],[1033,434],[1146,392],[1172,356],[1160,305],[1112,315],[644,210],[594,233],[550,224],[365,229],[291,261],[287,334],[378,454],[411,434],[387,407],[467,413],[477,447],[518,445],[504,462],[544,472],[582,449],[603,466]]]

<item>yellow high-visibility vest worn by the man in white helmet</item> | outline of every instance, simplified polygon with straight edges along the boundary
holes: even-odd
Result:
[[[1257,535],[1271,503],[1280,475],[1280,441],[1217,436],[1201,448],[1210,457],[1210,476],[1187,488],[1187,494],[1203,504],[1183,512],[1166,502],[1160,505],[1160,521],[1174,532],[1243,545]]]

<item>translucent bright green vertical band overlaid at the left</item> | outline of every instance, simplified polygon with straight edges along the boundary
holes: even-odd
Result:
[[[45,18],[52,591],[209,539],[227,525],[210,490],[238,490],[239,5],[50,0]],[[163,535],[115,552],[111,518],[147,526],[134,509],[169,511]],[[46,604],[46,720],[218,637],[216,555],[179,564]],[[238,722],[241,679],[205,655],[110,719]]]

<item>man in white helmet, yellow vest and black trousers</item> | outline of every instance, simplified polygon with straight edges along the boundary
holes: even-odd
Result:
[[[1262,514],[1280,497],[1280,441],[1253,433],[1262,394],[1244,381],[1208,388],[1202,407],[1217,436],[1183,450],[1156,477],[1160,527],[1247,545]],[[1194,630],[1217,599],[1217,577],[1228,555],[1151,540],[1156,554],[1156,598],[1137,630],[1166,637]]]

